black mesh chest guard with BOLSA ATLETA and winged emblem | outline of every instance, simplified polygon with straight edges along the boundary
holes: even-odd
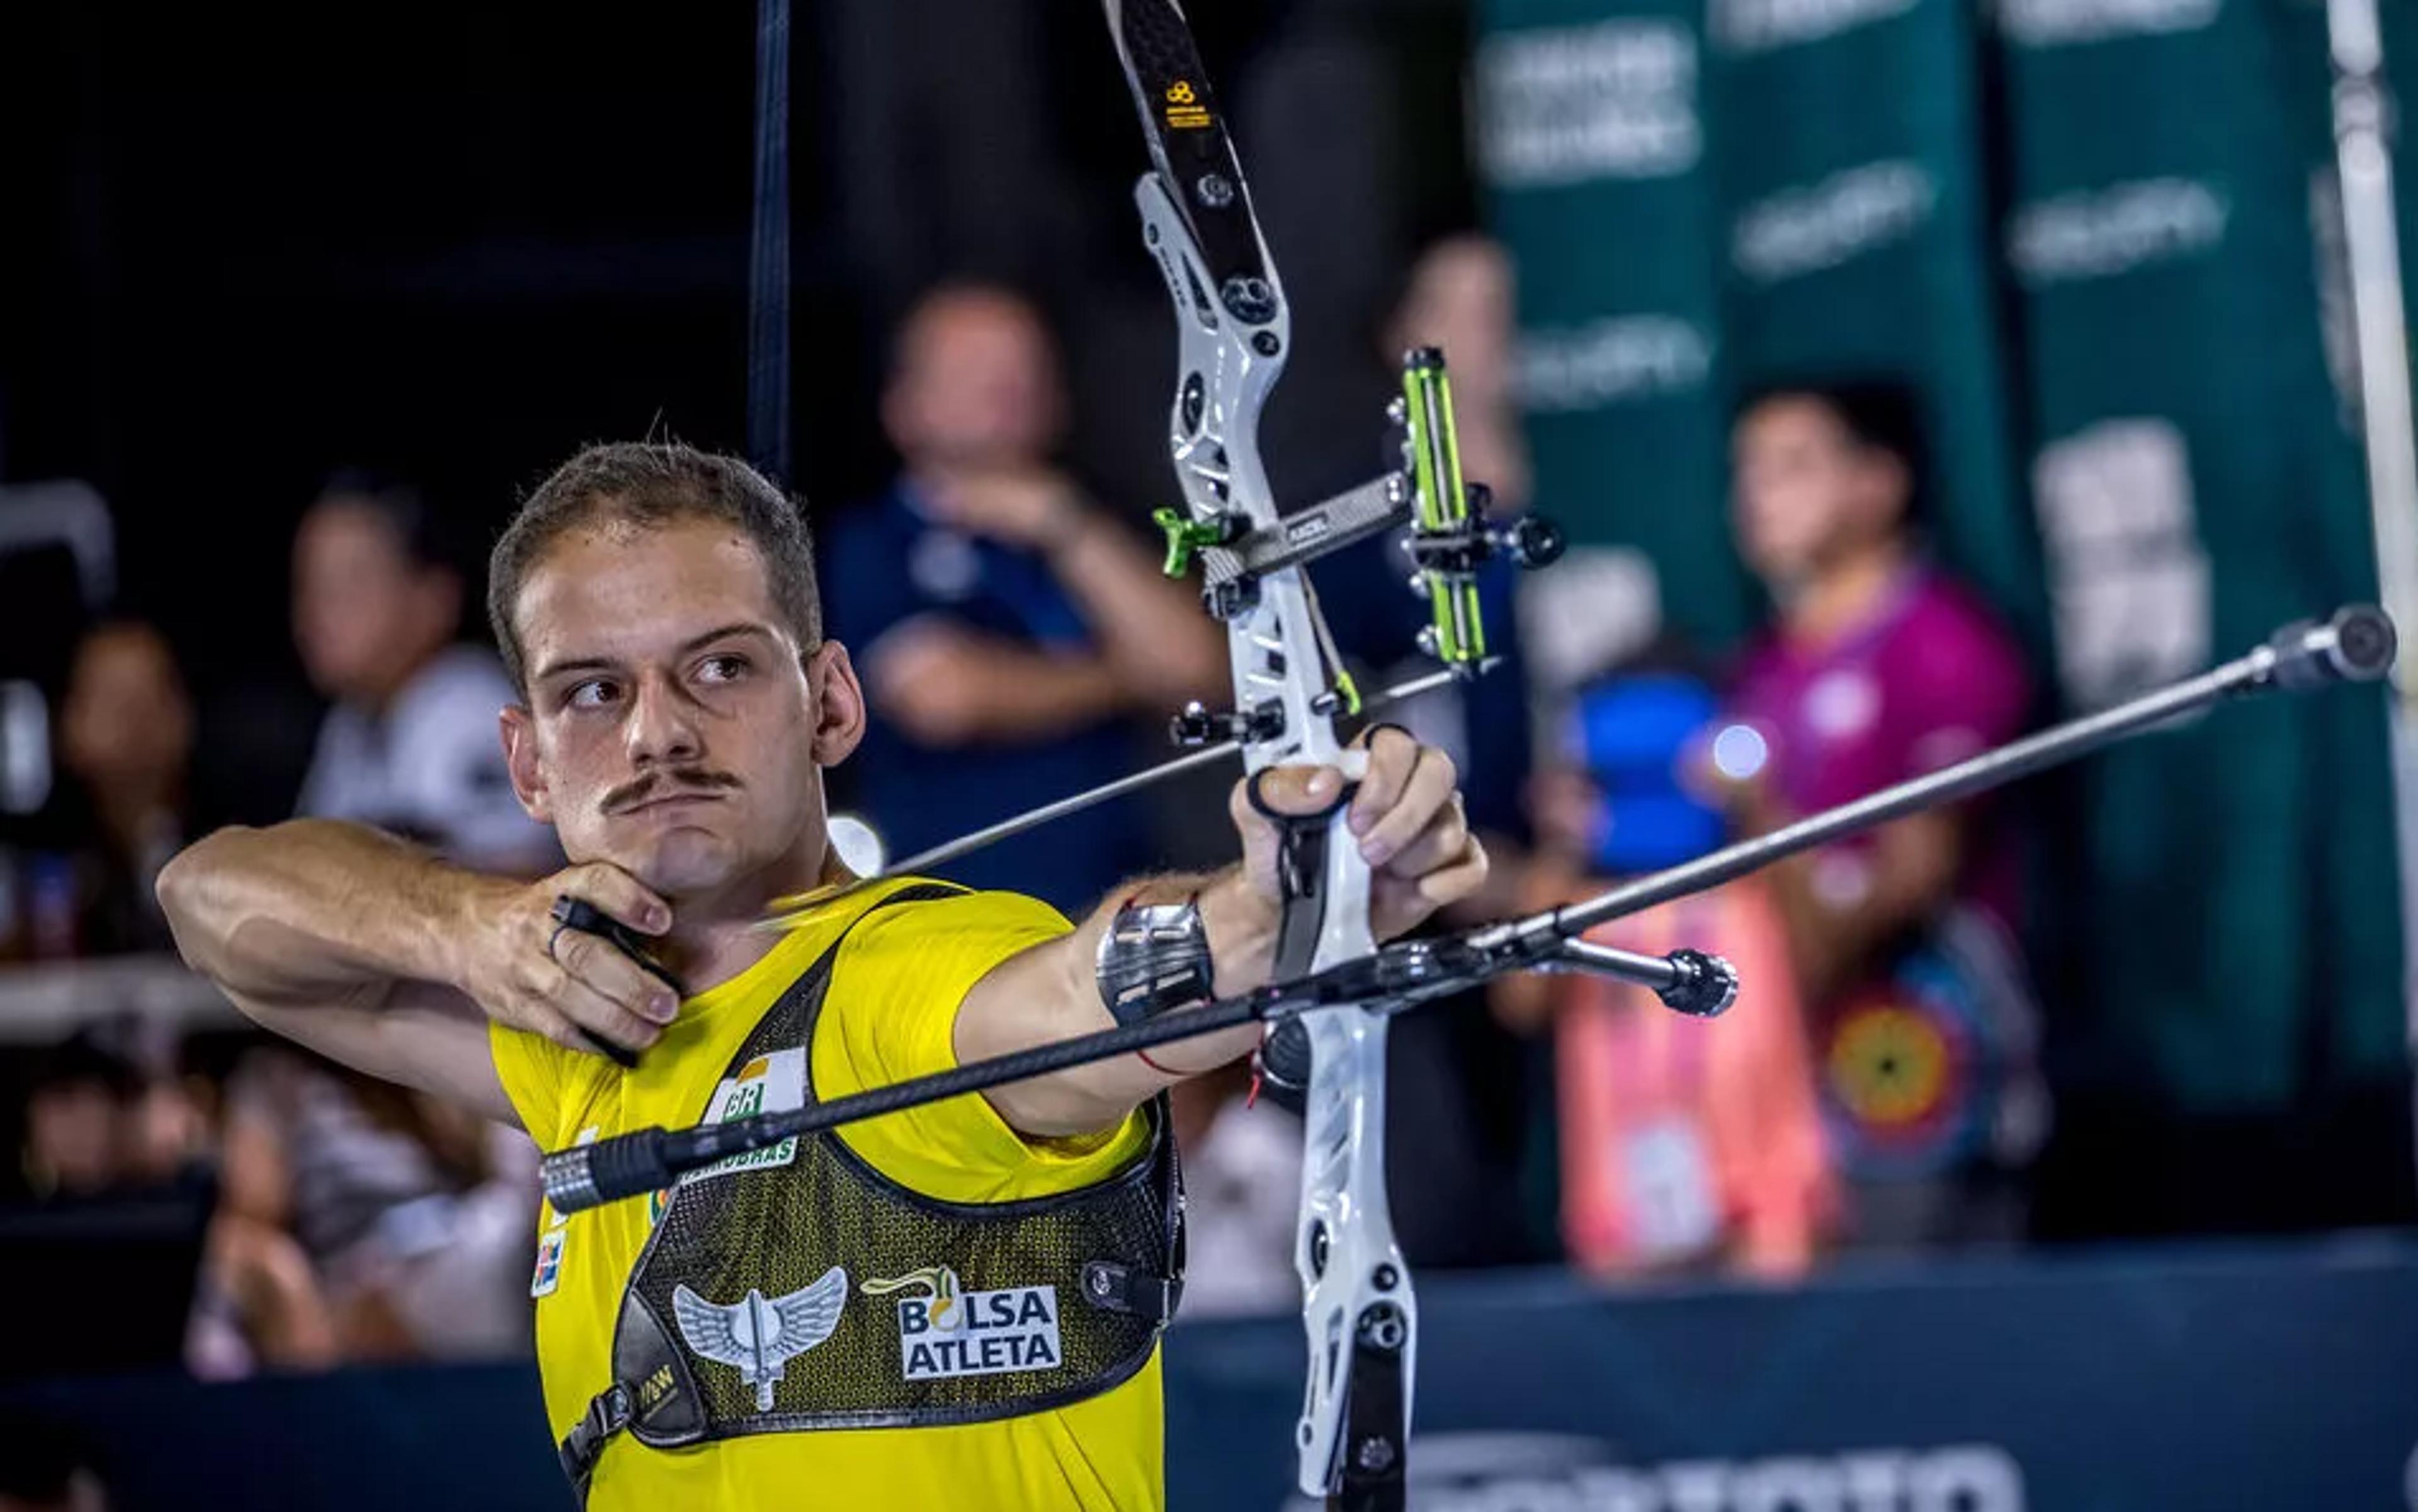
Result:
[[[916,885],[873,907],[950,893]],[[815,1098],[808,1067],[837,956],[832,941],[764,1014],[725,1089],[762,1084],[788,1052]],[[1023,1202],[926,1198],[832,1132],[682,1178],[621,1294],[614,1384],[563,1439],[563,1471],[585,1493],[624,1427],[670,1449],[989,1422],[1129,1379],[1182,1287],[1175,1137],[1163,1103],[1146,1118],[1151,1144],[1122,1171]]]

